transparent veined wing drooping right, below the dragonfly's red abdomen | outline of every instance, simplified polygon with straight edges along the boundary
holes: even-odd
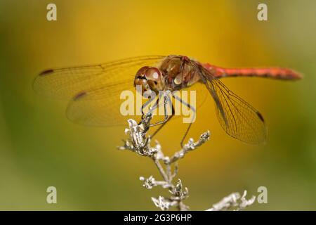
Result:
[[[227,134],[246,143],[263,143],[267,130],[263,116],[211,74],[204,73],[207,89],[216,103],[216,114]]]

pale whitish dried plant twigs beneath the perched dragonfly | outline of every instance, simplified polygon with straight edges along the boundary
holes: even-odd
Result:
[[[143,181],[143,186],[147,189],[151,189],[154,186],[162,186],[162,188],[168,188],[171,196],[159,198],[153,198],[152,202],[154,205],[159,207],[161,210],[169,210],[170,207],[176,207],[178,210],[189,210],[189,207],[183,203],[188,197],[189,191],[186,187],[183,187],[182,181],[178,179],[176,182],[173,182],[173,179],[178,174],[178,160],[184,158],[187,153],[192,150],[197,149],[199,146],[202,146],[203,143],[209,140],[210,132],[204,132],[198,141],[189,139],[189,141],[180,149],[178,152],[169,158],[164,156],[162,152],[162,146],[159,142],[156,141],[154,147],[150,146],[150,136],[146,136],[147,131],[150,128],[150,120],[152,119],[152,113],[149,112],[145,115],[143,120],[138,124],[135,120],[128,120],[129,129],[125,129],[125,133],[129,134],[129,139],[124,141],[124,146],[119,147],[120,150],[131,150],[138,155],[152,158],[154,164],[157,166],[159,173],[162,175],[163,181],[156,181],[153,176],[148,177],[147,179],[143,176],[140,176],[140,181]],[[172,171],[172,165],[174,164],[174,169]],[[220,200],[219,203],[213,205],[212,208],[208,211],[217,211],[217,210],[228,210],[235,208],[235,210],[242,210],[244,207],[247,207],[254,203],[255,196],[250,200],[246,200],[246,191],[243,195],[239,193],[232,193],[228,197]]]

